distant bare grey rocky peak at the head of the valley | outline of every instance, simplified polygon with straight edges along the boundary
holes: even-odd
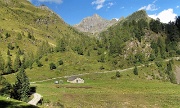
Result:
[[[94,14],[91,17],[84,18],[79,24],[74,25],[74,27],[82,32],[98,33],[112,26],[117,21],[116,19],[109,21]]]

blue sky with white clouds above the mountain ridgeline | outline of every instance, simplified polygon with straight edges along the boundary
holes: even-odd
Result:
[[[33,5],[46,5],[66,23],[78,24],[93,14],[111,20],[127,17],[138,10],[146,10],[151,18],[161,22],[174,21],[180,16],[180,0],[28,0]]]

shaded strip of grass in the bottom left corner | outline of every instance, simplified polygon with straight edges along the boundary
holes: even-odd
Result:
[[[38,108],[36,106],[29,105],[25,102],[17,101],[14,99],[7,99],[0,96],[0,108]]]

